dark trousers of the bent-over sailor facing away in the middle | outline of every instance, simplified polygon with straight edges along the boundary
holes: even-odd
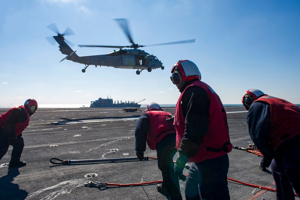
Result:
[[[157,163],[163,176],[164,187],[170,193],[172,200],[181,200],[179,180],[174,173],[173,157],[177,152],[176,133],[169,133],[156,144]]]

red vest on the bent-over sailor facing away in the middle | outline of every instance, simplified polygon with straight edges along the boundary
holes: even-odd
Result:
[[[147,133],[147,144],[150,149],[155,150],[156,143],[160,142],[168,133],[176,133],[173,121],[166,121],[171,118],[171,113],[165,111],[148,111],[149,132]]]

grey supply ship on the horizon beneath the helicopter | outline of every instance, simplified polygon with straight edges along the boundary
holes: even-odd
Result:
[[[98,100],[95,101],[91,101],[91,105],[90,108],[128,108],[128,107],[136,107],[136,108],[140,108],[141,104],[138,104],[138,102],[134,102],[134,101],[125,101],[122,102],[122,100],[119,102],[117,100],[113,102],[112,98],[109,98],[107,96],[106,99],[104,98],[99,98]]]

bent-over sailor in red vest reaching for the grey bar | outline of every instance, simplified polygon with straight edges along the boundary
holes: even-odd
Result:
[[[174,173],[173,157],[176,154],[176,130],[172,114],[165,112],[157,103],[149,103],[147,110],[137,120],[135,127],[135,150],[140,160],[144,159],[146,142],[151,150],[157,152],[158,168],[161,170],[163,183],[156,189],[173,200],[181,200],[179,180]]]

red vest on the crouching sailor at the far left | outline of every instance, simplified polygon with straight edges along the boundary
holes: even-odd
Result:
[[[17,106],[17,107],[11,108],[9,111],[4,112],[2,115],[0,115],[0,125],[2,124],[2,125],[5,126],[7,124],[6,122],[9,118],[10,114],[13,112],[14,109],[17,109],[17,108],[25,109],[27,119],[24,122],[16,123],[16,136],[20,135],[23,132],[23,130],[25,130],[26,127],[29,124],[30,116],[29,116],[29,113],[28,113],[27,109],[24,106]],[[3,128],[4,128],[4,126],[3,126]]]

